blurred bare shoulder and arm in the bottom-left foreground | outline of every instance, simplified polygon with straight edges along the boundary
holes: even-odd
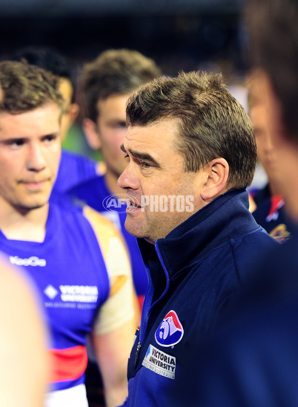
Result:
[[[35,292],[0,260],[0,406],[41,407],[47,391],[46,330]]]

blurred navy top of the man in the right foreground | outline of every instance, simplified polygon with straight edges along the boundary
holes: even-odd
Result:
[[[165,407],[298,406],[298,229],[238,290]]]

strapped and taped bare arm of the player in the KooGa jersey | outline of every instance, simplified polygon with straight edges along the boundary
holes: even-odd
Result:
[[[84,209],[97,235],[110,280],[110,295],[101,306],[91,340],[104,384],[107,407],[122,405],[127,397],[127,363],[140,309],[133,286],[129,256],[114,225]]]

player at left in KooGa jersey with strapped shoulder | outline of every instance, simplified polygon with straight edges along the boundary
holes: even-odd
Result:
[[[61,153],[58,80],[32,65],[0,63],[0,250],[26,268],[45,307],[51,357],[46,406],[88,405],[90,334],[106,404],[114,407],[127,396],[135,329],[130,263],[107,219],[88,207],[49,203]]]

